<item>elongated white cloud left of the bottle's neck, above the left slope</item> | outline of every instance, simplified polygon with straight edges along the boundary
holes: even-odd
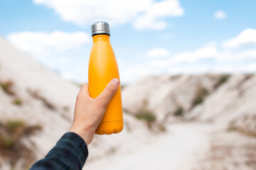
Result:
[[[38,55],[53,51],[63,52],[65,50],[78,49],[82,45],[90,43],[90,36],[83,32],[21,32],[11,33],[7,36],[7,40],[19,50],[31,53],[32,55]]]

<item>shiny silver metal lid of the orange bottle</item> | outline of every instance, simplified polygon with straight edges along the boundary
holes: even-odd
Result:
[[[98,34],[110,35],[110,25],[104,21],[97,21],[92,24],[92,36]]]

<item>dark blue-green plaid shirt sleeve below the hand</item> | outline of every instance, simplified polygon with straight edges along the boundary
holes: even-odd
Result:
[[[80,170],[87,157],[88,149],[82,137],[66,132],[46,157],[33,164],[30,170]]]

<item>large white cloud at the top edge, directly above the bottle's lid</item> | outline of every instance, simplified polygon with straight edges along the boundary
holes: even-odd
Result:
[[[166,28],[167,17],[182,16],[178,0],[33,0],[53,8],[64,21],[88,26],[95,21],[111,25],[132,22],[137,29]]]

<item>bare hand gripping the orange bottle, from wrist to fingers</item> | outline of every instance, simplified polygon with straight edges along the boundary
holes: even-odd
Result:
[[[97,98],[91,98],[88,84],[83,84],[75,102],[74,120],[69,132],[80,135],[89,145],[118,86],[119,79],[114,78]]]

